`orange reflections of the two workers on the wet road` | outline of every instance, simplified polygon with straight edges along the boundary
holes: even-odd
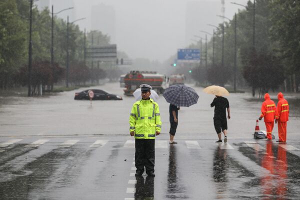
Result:
[[[269,199],[271,196],[276,196],[277,199],[286,199],[286,150],[278,146],[276,159],[272,149],[272,142],[267,141],[266,154],[261,160],[261,166],[270,171],[269,175],[263,176],[260,180],[263,199]]]

